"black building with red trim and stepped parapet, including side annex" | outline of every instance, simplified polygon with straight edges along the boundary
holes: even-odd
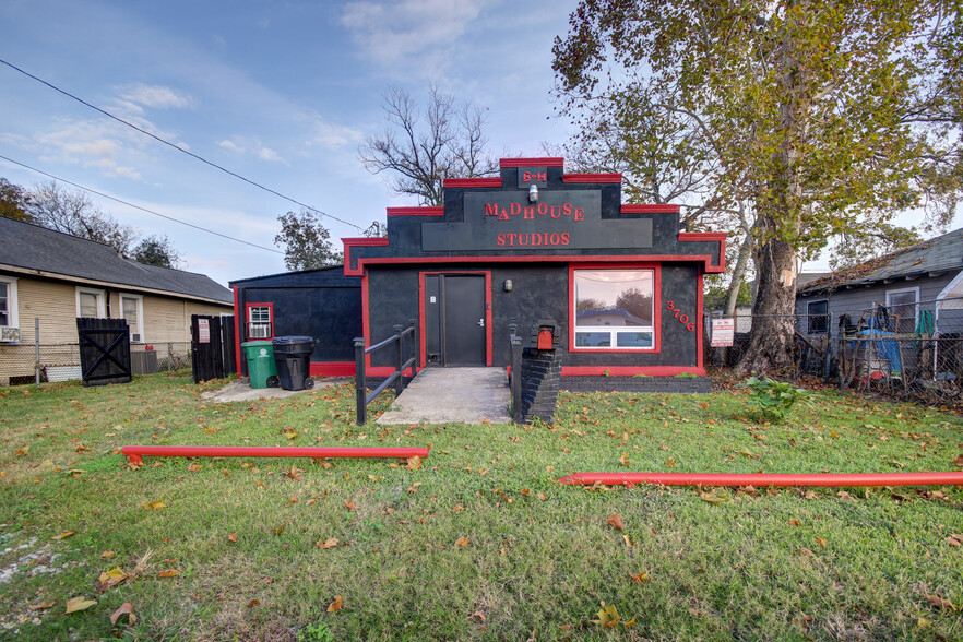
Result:
[[[704,374],[702,275],[725,270],[725,238],[680,231],[677,205],[623,205],[621,175],[504,158],[499,177],[447,179],[442,207],[390,207],[387,238],[343,239],[337,276],[231,286],[237,318],[321,340],[314,374],[353,372],[353,336],[370,345],[408,319],[423,366],[509,366],[511,319],[520,333],[551,319],[563,377]]]

